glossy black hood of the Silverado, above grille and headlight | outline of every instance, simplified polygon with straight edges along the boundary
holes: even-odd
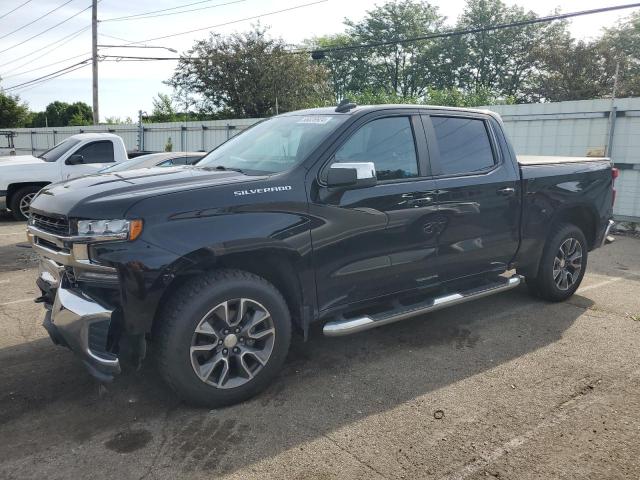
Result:
[[[77,218],[118,218],[138,201],[150,197],[257,179],[234,171],[194,167],[87,175],[43,188],[31,208],[38,213]]]

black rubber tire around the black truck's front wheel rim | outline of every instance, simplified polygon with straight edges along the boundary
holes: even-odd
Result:
[[[210,318],[207,315],[211,314],[212,309],[223,302],[233,302],[236,301],[234,299],[240,298],[259,303],[270,314],[269,328],[274,330],[274,338],[270,344],[272,350],[266,362],[259,366],[260,370],[255,376],[247,375],[249,380],[237,379],[246,383],[233,388],[219,388],[205,383],[207,380],[203,380],[196,373],[196,367],[192,364],[195,361],[191,352],[192,342],[199,335],[195,333],[196,327],[202,325],[204,318]],[[220,322],[215,316],[211,318]],[[265,279],[240,270],[217,270],[188,281],[173,294],[158,321],[160,323],[157,330],[156,355],[162,377],[184,400],[209,408],[247,400],[269,386],[280,371],[291,342],[291,316],[280,292]],[[250,320],[242,322],[246,323],[250,323]],[[215,338],[219,337],[214,335],[211,338],[215,343],[218,341]],[[245,341],[241,336],[238,338]],[[251,341],[247,337],[247,344],[237,346],[249,348],[248,344]],[[211,354],[211,358],[222,355],[225,345],[226,337],[222,346],[207,352],[206,355]],[[234,357],[233,360],[230,358],[231,349],[227,350],[229,359],[225,365],[227,368],[235,365],[236,370],[240,372],[240,356]],[[244,373],[244,369],[242,372]]]

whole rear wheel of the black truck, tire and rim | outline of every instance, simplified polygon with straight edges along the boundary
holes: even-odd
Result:
[[[587,256],[582,230],[568,223],[557,225],[542,252],[538,275],[526,279],[529,291],[552,302],[566,300],[582,282]]]

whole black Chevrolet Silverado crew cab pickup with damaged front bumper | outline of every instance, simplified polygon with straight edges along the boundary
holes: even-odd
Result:
[[[229,404],[314,322],[347,335],[523,280],[566,299],[608,238],[615,174],[605,158],[517,159],[488,111],[291,112],[197,166],[44,188],[28,223],[37,301],[101,381],[150,345],[184,398]]]

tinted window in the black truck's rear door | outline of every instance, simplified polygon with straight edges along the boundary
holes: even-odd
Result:
[[[484,120],[431,117],[431,122],[444,175],[478,172],[493,166],[493,150]]]

